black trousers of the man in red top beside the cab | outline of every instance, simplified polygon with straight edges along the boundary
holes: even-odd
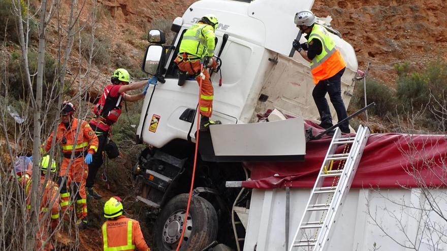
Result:
[[[88,165],[88,176],[85,183],[85,187],[87,188],[93,187],[98,170],[104,163],[104,150],[107,144],[107,136],[109,135],[108,131],[104,131],[92,124],[90,124],[90,126],[91,129],[96,133],[99,144],[98,151],[93,154],[93,160],[91,161],[90,165]]]

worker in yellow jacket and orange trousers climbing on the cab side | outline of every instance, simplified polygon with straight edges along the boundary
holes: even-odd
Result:
[[[202,78],[202,88],[200,90],[200,130],[208,129],[209,125],[220,124],[220,121],[210,120],[213,106],[213,86],[210,81],[208,70],[205,68],[216,68],[217,60],[213,58],[215,47],[214,32],[218,26],[217,17],[211,14],[205,15],[202,19],[191,26],[183,34],[180,43],[178,56],[175,59],[180,75],[189,74],[200,83]],[[203,77],[201,76],[201,62],[204,64]]]

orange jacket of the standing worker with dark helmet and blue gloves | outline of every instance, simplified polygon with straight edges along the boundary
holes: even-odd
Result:
[[[78,123],[81,123],[79,133],[77,133],[76,130],[78,128]],[[78,134],[77,137],[76,134]],[[48,137],[47,142],[43,147],[45,152],[50,150],[52,140],[53,133]],[[98,137],[94,134],[94,131],[86,121],[79,119],[73,119],[68,130],[62,122],[57,125],[56,144],[60,144],[63,154],[67,155],[71,155],[73,149],[75,149],[75,154],[85,151],[93,154],[98,151]]]

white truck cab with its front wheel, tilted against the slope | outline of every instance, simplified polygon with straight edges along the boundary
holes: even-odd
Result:
[[[147,48],[143,69],[156,75],[159,82],[149,87],[144,99],[137,138],[151,147],[141,153],[134,174],[142,184],[138,198],[162,209],[154,226],[155,250],[175,250],[178,243],[182,226],[178,219],[184,219],[184,193],[190,182],[194,147],[191,143],[195,142],[197,128],[198,83],[190,79],[184,85],[178,85],[178,69],[173,62],[183,32],[206,14],[218,18],[214,54],[221,59],[221,71],[211,76],[213,120],[220,120],[223,125],[252,124],[258,121],[257,114],[269,109],[318,120],[311,95],[314,84],[309,63],[299,53],[288,56],[299,31],[294,16],[301,10],[310,10],[312,5],[313,0],[201,0],[174,20],[171,29],[176,36],[172,45],[163,45],[162,31],[149,32],[148,40],[153,44]],[[347,106],[354,89],[357,59],[353,47],[339,37],[328,20],[330,18],[318,19],[318,22],[332,32],[346,61],[342,98]],[[304,36],[300,42],[305,42]],[[336,118],[333,108],[331,111]],[[269,130],[275,130],[275,127]],[[281,129],[282,132],[294,130],[302,128]],[[188,216],[191,221],[187,224],[191,224],[191,230],[185,233],[181,250],[186,246],[190,248],[188,250],[202,250],[216,238],[229,248],[218,250],[235,248],[234,237],[229,234],[232,229],[227,225],[230,222],[228,208],[231,208],[237,191],[225,189],[224,184],[226,180],[246,179],[241,163],[203,161],[196,177],[199,177],[195,183],[197,196],[193,198],[193,202],[197,200],[193,203],[196,208],[191,209],[196,215]],[[201,217],[198,213],[209,217]],[[191,242],[193,237],[199,241]]]

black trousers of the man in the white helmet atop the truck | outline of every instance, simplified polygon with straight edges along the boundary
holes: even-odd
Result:
[[[329,79],[318,82],[312,91],[313,100],[315,101],[318,113],[320,113],[321,125],[326,129],[333,125],[331,111],[329,110],[328,101],[325,97],[326,93],[329,94],[331,103],[334,105],[335,112],[337,112],[338,122],[347,118],[346,107],[344,106],[343,99],[341,99],[341,76],[344,73],[344,69],[341,69]],[[340,130],[349,131],[349,121],[343,122],[340,125]]]

